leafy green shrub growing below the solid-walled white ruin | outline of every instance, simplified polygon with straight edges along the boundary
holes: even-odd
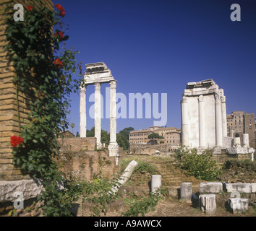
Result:
[[[213,151],[207,149],[202,154],[197,154],[197,149],[176,150],[176,160],[182,170],[200,180],[217,180],[219,170],[216,160],[212,160]]]

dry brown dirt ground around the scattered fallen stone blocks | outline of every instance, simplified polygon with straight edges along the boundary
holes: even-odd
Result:
[[[200,186],[200,182],[203,181],[197,180],[191,176],[187,176],[186,174],[182,173],[181,170],[179,170],[179,168],[176,168],[174,165],[172,165],[171,162],[163,163],[163,161],[159,161],[158,159],[152,160],[152,158],[148,157],[140,157],[140,160],[144,160],[146,162],[154,162],[154,164],[157,165],[158,173],[163,176],[163,185],[166,185],[168,187],[178,187],[182,182],[192,182],[192,193],[197,193]],[[228,178],[232,178],[232,176],[233,175],[226,176],[226,179],[223,179],[223,181],[228,180]],[[242,176],[243,178],[246,178],[246,175]],[[237,177],[238,176],[236,175],[236,179]],[[255,173],[248,175],[248,177],[249,178],[247,180],[249,180],[249,182],[255,182],[255,180],[252,180],[256,179]],[[141,181],[144,181],[144,185],[137,185],[139,179],[140,183]],[[149,188],[147,187],[147,183],[150,182],[150,175],[135,174],[132,176],[130,181],[132,181],[133,183],[129,185],[129,188],[146,187],[146,191],[149,190]],[[133,193],[135,193],[135,191],[133,191]],[[139,191],[137,193],[142,193],[142,191]],[[137,195],[137,198],[139,198],[140,195]],[[125,197],[126,196],[124,196],[124,198]],[[223,199],[221,196],[218,198],[221,198],[221,203],[224,204],[226,199]],[[114,212],[107,212],[106,215],[102,214],[102,217],[121,217],[121,213],[125,212],[127,209],[127,205],[124,205],[124,209],[119,209]],[[82,217],[81,206],[79,206],[78,208],[77,216]],[[158,204],[155,206],[155,209],[153,209],[153,211],[146,213],[145,217],[256,217],[256,209],[252,205],[249,205],[249,210],[247,212],[232,214],[231,212],[228,212],[226,210],[225,206],[217,206],[215,214],[205,214],[200,210],[198,206],[195,206],[192,203],[187,203],[185,201],[179,200],[171,196],[164,196],[163,199],[158,201]]]

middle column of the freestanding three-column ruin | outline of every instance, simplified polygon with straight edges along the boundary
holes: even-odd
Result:
[[[97,149],[101,149],[101,83],[95,82],[94,126]]]

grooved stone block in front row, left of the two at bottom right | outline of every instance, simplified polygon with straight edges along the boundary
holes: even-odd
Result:
[[[199,207],[205,214],[214,214],[216,212],[215,194],[204,194],[199,196]]]

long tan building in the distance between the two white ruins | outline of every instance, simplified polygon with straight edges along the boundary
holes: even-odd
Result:
[[[162,128],[159,126],[131,131],[129,133],[129,144],[155,144],[155,141],[148,139],[148,136],[153,133],[164,137],[164,139],[155,139],[158,144],[167,144],[170,149],[172,147],[180,147],[181,129],[174,127]]]

